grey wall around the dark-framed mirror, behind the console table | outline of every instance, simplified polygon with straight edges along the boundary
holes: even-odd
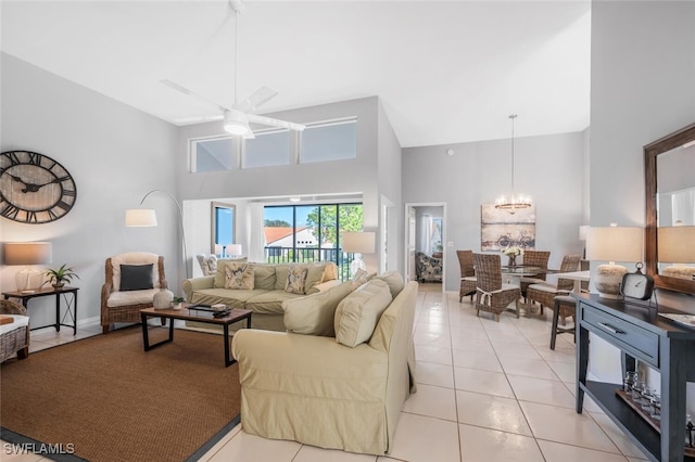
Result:
[[[644,226],[643,146],[695,121],[694,24],[695,2],[592,2],[592,226]],[[695,312],[692,297],[660,303]],[[591,350],[590,372],[620,382],[618,350]]]

